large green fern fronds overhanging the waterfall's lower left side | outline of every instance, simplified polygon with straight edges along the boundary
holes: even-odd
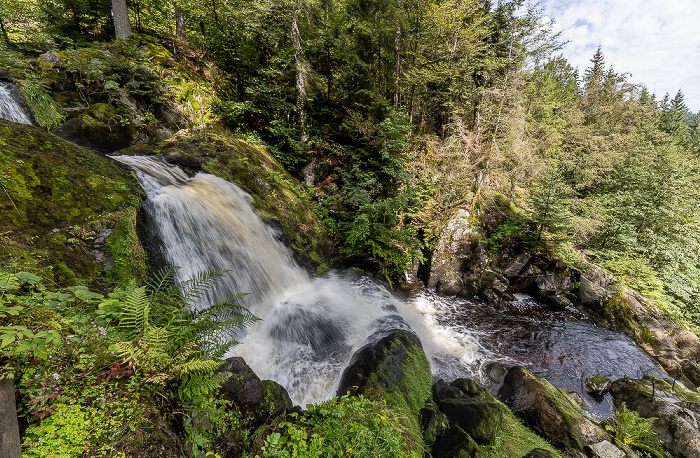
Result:
[[[226,273],[204,272],[178,283],[175,269],[166,268],[148,287],[120,291],[100,304],[103,316],[119,317],[124,335],[114,349],[123,363],[145,383],[176,387],[195,455],[210,446],[212,425],[219,417],[214,393],[226,377],[215,375],[220,358],[238,343],[236,331],[257,320],[235,303],[240,294],[200,303]]]

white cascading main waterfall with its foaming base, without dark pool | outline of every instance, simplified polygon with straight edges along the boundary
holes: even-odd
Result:
[[[236,185],[205,173],[190,179],[151,157],[114,159],[137,170],[167,262],[180,267],[178,280],[224,268],[231,272],[215,295],[250,293],[241,304],[263,320],[235,353],[258,376],[287,388],[295,403],[332,397],[352,354],[370,337],[413,328],[429,353],[434,347],[421,314],[368,279],[310,279]]]

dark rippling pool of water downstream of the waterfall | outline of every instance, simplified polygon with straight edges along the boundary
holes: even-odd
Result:
[[[580,394],[586,411],[600,418],[611,415],[609,399],[597,402],[591,397],[585,390],[587,377],[616,380],[652,374],[668,378],[630,338],[596,326],[575,310],[552,311],[528,297],[520,297],[508,308],[454,297],[429,295],[427,299],[436,309],[438,325],[478,343],[472,364],[463,365],[460,373],[454,364],[446,370],[450,363],[443,361],[434,370],[438,376],[477,377],[497,391],[503,373],[494,370],[493,363],[523,366],[565,391]]]

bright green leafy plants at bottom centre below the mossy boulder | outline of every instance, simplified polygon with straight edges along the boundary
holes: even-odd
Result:
[[[296,414],[293,414],[296,415]],[[407,449],[402,414],[379,400],[345,395],[318,405],[267,436],[264,457],[422,456]]]

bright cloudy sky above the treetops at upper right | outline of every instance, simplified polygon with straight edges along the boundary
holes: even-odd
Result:
[[[602,46],[606,65],[630,73],[657,99],[678,89],[700,111],[700,0],[540,0],[569,41],[562,53],[582,75]]]

